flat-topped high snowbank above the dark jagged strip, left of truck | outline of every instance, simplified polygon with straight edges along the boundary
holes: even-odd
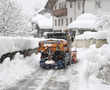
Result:
[[[0,56],[7,52],[36,48],[41,40],[32,37],[0,37]]]

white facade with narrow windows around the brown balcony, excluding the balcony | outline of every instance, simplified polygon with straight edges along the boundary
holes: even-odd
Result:
[[[78,0],[76,2],[72,1],[66,1],[66,0],[58,0],[58,2],[54,6],[54,10],[59,9],[59,5],[62,4],[63,7],[67,8],[67,16],[60,16],[60,17],[53,17],[53,29],[54,30],[65,30],[67,29],[67,26],[76,19],[77,16],[81,14],[82,6],[81,6],[82,0]],[[63,19],[63,24],[62,24]],[[55,22],[57,22],[57,25],[55,25]],[[60,25],[59,25],[60,22]]]

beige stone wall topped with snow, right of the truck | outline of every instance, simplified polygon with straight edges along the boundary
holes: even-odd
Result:
[[[75,40],[72,44],[73,47],[77,48],[89,48],[91,45],[96,44],[97,48],[100,48],[102,45],[107,44],[106,39],[89,39],[89,40]]]

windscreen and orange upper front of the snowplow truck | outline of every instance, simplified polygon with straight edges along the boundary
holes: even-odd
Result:
[[[46,32],[44,37],[47,40],[39,42],[38,51],[45,51],[50,48],[52,52],[60,50],[63,52],[69,52],[69,45],[67,40],[67,33],[65,32]]]

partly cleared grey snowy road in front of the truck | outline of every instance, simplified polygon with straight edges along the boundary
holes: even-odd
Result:
[[[30,77],[20,81],[17,86],[7,90],[69,90],[69,81],[64,80],[67,78],[65,73],[66,70],[44,70],[39,68]]]

